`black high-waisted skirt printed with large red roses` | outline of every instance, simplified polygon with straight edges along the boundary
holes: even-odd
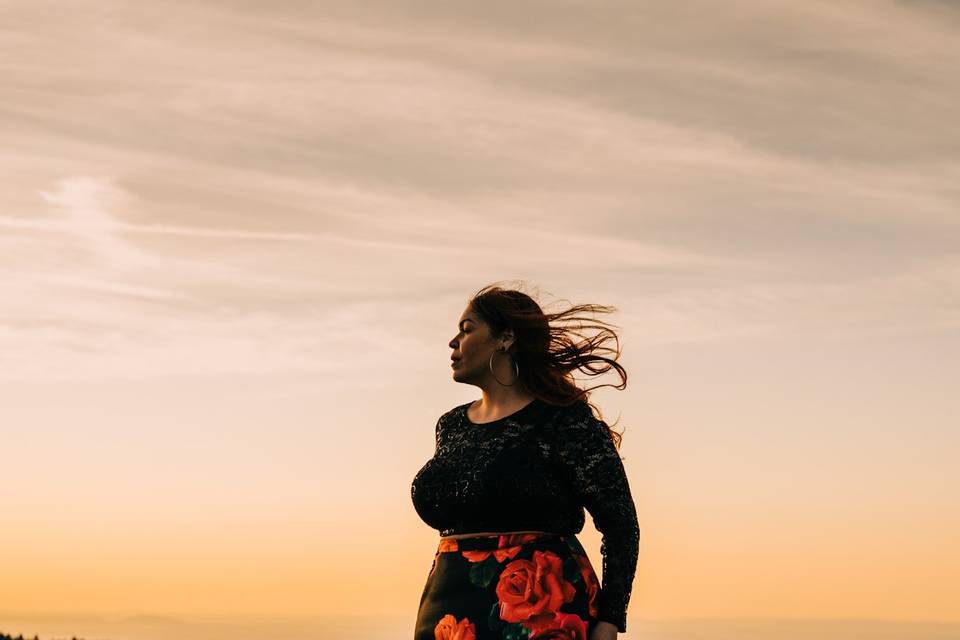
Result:
[[[599,591],[576,535],[441,538],[414,640],[588,640]]]

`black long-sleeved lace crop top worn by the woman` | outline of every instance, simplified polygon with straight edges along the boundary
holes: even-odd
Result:
[[[466,403],[437,420],[436,452],[411,487],[417,513],[441,536],[498,531],[575,534],[584,507],[603,538],[598,619],[627,630],[640,529],[623,461],[585,401],[535,399],[489,423]]]

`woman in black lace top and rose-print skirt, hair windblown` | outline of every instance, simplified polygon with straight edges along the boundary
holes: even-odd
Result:
[[[491,286],[467,304],[450,341],[453,379],[482,397],[437,420],[436,451],[411,487],[440,531],[420,598],[415,640],[615,640],[639,552],[637,513],[617,449],[571,372],[615,368],[615,333]],[[586,338],[556,321],[606,335]],[[553,324],[551,324],[553,323]],[[612,353],[613,359],[597,355]],[[594,387],[596,388],[596,387]],[[603,585],[576,534],[584,507],[603,535]]]

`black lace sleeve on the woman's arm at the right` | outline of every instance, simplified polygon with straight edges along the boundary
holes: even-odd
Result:
[[[603,582],[597,618],[627,630],[627,605],[640,550],[640,527],[630,485],[606,426],[586,402],[559,422],[561,463],[603,538]]]

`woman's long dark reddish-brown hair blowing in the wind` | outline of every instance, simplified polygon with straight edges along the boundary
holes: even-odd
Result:
[[[544,313],[527,294],[496,285],[487,285],[477,291],[468,304],[470,310],[490,326],[494,337],[499,337],[506,329],[513,330],[515,339],[508,353],[517,363],[520,382],[532,396],[561,406],[570,406],[583,399],[606,427],[617,449],[620,448],[621,434],[610,428],[599,408],[589,400],[593,389],[614,387],[622,390],[627,386],[627,372],[616,361],[620,356],[620,339],[609,328],[616,325],[580,315],[584,312],[610,313],[616,307],[580,304],[557,313]],[[583,329],[600,329],[600,332],[587,336],[581,333]],[[611,339],[616,343],[616,349],[604,346]],[[581,389],[573,379],[576,369],[589,376],[616,369],[621,383]]]

